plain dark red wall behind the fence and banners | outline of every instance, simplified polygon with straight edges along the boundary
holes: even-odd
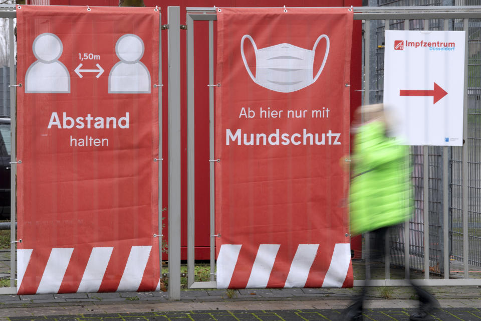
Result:
[[[50,4],[65,6],[118,6],[118,0],[50,0]],[[180,21],[185,22],[187,7],[355,7],[362,6],[362,0],[144,0],[145,6],[159,6],[162,24],[167,24],[167,7],[180,7]],[[194,70],[195,70],[195,258],[209,259],[209,110],[208,110],[208,25],[207,22],[195,23]],[[214,23],[215,35],[215,23]],[[162,156],[168,157],[167,148],[167,30],[162,31]],[[214,39],[215,44],[215,39]],[[187,89],[186,89],[186,38],[181,32],[181,222],[182,222],[182,259],[187,257]],[[215,61],[215,57],[214,57]],[[361,22],[354,22],[351,55],[351,111],[361,104]],[[352,114],[352,113],[351,113]],[[164,224],[168,216],[168,169],[167,162],[162,166],[162,207]],[[167,240],[167,228],[162,231]],[[353,240],[354,241],[354,240]],[[353,242],[354,243],[354,242]],[[360,251],[360,243],[359,246]],[[357,251],[356,251],[357,252]],[[167,259],[164,255],[163,259]]]

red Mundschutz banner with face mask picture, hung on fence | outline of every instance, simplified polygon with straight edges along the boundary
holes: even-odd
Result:
[[[218,288],[352,286],[348,8],[221,8]]]

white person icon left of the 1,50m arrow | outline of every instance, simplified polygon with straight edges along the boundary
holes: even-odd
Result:
[[[57,35],[40,34],[32,45],[37,61],[25,74],[26,93],[70,93],[70,75],[63,63],[58,61],[63,46]]]

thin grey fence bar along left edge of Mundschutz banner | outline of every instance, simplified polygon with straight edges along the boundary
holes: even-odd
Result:
[[[209,21],[209,84],[214,84],[214,22]],[[214,153],[214,86],[209,87],[209,157]],[[215,162],[209,162],[210,235],[215,234]],[[215,237],[210,237],[210,280],[215,281]]]

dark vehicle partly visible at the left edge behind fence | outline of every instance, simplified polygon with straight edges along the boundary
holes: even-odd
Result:
[[[10,220],[10,118],[0,117],[0,219]]]

